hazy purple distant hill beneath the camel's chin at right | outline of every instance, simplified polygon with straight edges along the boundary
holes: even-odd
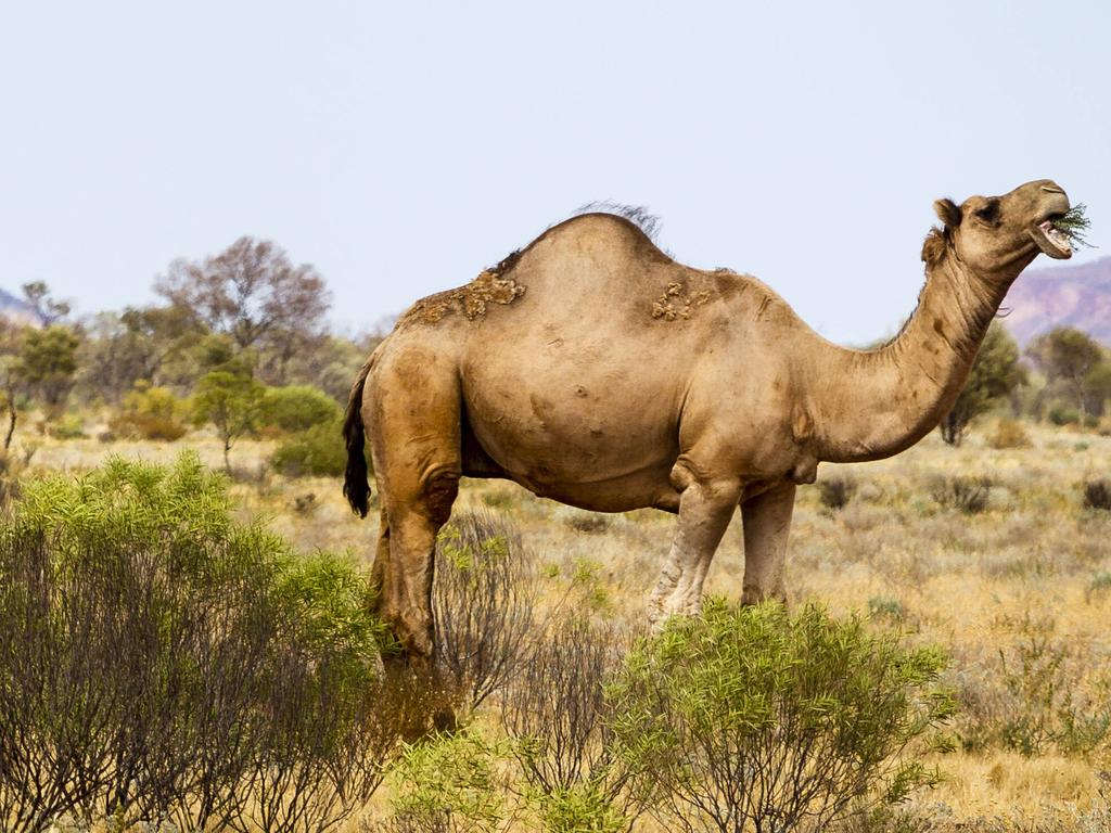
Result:
[[[1020,344],[1054,327],[1075,327],[1111,344],[1111,258],[1023,272],[1003,301]]]

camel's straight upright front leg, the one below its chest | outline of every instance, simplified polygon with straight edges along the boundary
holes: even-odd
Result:
[[[741,504],[744,521],[743,604],[787,602],[783,562],[794,511],[794,483],[784,483]]]

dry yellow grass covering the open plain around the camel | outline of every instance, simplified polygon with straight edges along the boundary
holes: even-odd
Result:
[[[867,612],[870,602],[881,614],[897,610],[898,616],[883,614],[883,621],[901,621],[910,639],[949,648],[953,684],[974,714],[1005,705],[1001,652],[1017,650],[1032,633],[1067,650],[1060,684],[1081,706],[1100,696],[1111,702],[1111,690],[1100,689],[1111,684],[1111,580],[1101,578],[1111,576],[1111,512],[1085,509],[1082,490],[1111,471],[1111,438],[1024,428],[1025,446],[989,448],[973,434],[952,449],[931,435],[891,460],[823,465],[825,478],[851,476],[853,499],[830,512],[817,488],[804,488],[795,510],[788,560],[792,601],[821,600],[834,612]],[[171,443],[17,438],[17,444],[28,441],[41,444],[32,473],[80,472],[109,453],[169,460],[183,448],[196,449],[213,468],[222,463],[216,439],[200,432]],[[266,518],[301,548],[351,549],[369,559],[377,513],[360,522],[338,480],[270,474],[271,451],[271,444],[252,441],[232,450],[241,511]],[[990,479],[988,508],[965,514],[939,505],[930,483],[953,476]],[[598,610],[633,621],[642,615],[673,529],[672,518],[654,511],[594,520],[504,482],[466,482],[460,505],[510,515],[540,554],[551,592],[578,582]],[[742,575],[738,519],[707,590],[735,599]],[[1065,753],[1055,743],[1031,756],[998,744],[959,747],[940,756],[948,781],[919,796],[914,810],[953,822],[1080,812],[1099,800],[1098,773],[1111,769],[1108,750],[1107,741],[1087,754]]]

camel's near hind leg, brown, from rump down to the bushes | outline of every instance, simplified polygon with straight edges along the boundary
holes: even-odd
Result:
[[[382,506],[373,575],[379,614],[406,658],[433,653],[436,536],[459,493],[460,391],[453,364],[427,351],[400,351],[368,380],[370,429]]]

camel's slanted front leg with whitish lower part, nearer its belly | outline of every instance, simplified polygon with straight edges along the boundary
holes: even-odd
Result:
[[[662,624],[673,613],[692,615],[701,610],[702,582],[740,494],[735,480],[694,482],[683,490],[675,538],[648,603],[652,624]]]

